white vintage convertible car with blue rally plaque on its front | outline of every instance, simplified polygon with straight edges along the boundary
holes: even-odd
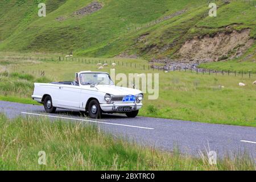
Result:
[[[44,105],[48,113],[56,108],[88,111],[91,118],[102,113],[125,113],[137,116],[142,107],[140,90],[115,86],[108,73],[84,71],[75,81],[35,83],[32,99]]]

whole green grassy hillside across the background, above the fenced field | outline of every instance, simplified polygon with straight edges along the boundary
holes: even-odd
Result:
[[[46,3],[46,17],[37,15],[39,2]],[[76,14],[92,2],[100,5],[100,9]],[[189,39],[249,28],[254,43],[251,49],[246,48],[245,56],[250,55],[246,61],[255,61],[256,2],[213,2],[218,5],[217,17],[208,16],[206,0],[3,0],[0,51],[69,53],[72,50],[90,57],[122,54],[148,60],[183,59],[177,51]]]

